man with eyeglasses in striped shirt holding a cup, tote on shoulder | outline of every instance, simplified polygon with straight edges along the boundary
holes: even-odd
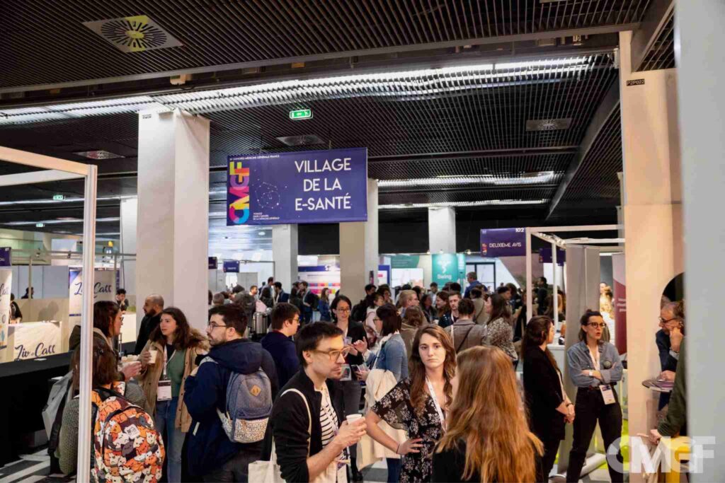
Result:
[[[343,332],[328,322],[302,327],[297,356],[302,369],[289,379],[275,401],[265,438],[265,456],[272,442],[281,476],[287,482],[347,482],[345,450],[365,434],[365,419],[348,423],[341,398],[335,397],[330,379],[341,377],[349,347]]]

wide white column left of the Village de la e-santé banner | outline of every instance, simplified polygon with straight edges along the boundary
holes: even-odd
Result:
[[[197,329],[207,324],[209,124],[178,110],[138,114],[136,298],[159,293]]]

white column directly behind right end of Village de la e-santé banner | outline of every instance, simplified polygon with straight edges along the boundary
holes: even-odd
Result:
[[[378,280],[378,180],[368,180],[368,221],[340,223],[340,292],[352,303],[365,298],[365,285]]]

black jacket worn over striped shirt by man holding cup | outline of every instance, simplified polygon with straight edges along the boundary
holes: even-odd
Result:
[[[337,413],[337,419],[344,421],[342,411],[341,393],[337,392],[331,381],[327,381],[330,391],[330,400]],[[288,389],[297,389],[307,398],[312,414],[312,433],[307,433],[310,419],[307,416],[305,401],[297,392],[287,392]],[[272,437],[277,453],[277,464],[280,467],[282,478],[287,482],[309,482],[310,474],[307,472],[307,445],[310,445],[310,456],[322,451],[322,427],[320,426],[320,408],[322,394],[315,391],[312,379],[307,377],[305,369],[299,369],[297,374],[280,390],[281,395],[274,403],[272,416],[267,425],[265,446],[262,450],[262,459],[269,460],[272,454]]]

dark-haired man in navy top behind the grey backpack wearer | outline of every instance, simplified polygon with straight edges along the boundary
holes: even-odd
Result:
[[[299,308],[291,303],[278,303],[272,311],[272,332],[260,341],[274,359],[280,387],[299,370],[297,350],[291,340],[299,329],[299,315]]]

